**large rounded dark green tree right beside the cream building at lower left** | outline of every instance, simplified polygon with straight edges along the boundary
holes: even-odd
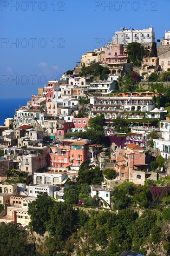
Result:
[[[44,235],[46,232],[53,204],[54,201],[52,201],[52,198],[47,193],[37,195],[37,199],[28,204],[28,214],[31,219],[29,226],[36,233]]]

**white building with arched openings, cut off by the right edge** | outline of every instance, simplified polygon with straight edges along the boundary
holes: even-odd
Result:
[[[160,131],[162,138],[154,139],[154,148],[160,150],[161,155],[167,160],[170,156],[170,121],[160,121]]]

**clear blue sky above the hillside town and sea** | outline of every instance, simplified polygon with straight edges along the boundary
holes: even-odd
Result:
[[[152,26],[156,40],[170,30],[169,0],[1,0],[0,4],[1,98],[37,94],[38,87],[75,67],[81,54],[101,47],[121,27]]]

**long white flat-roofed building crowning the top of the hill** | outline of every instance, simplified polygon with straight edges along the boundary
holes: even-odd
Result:
[[[112,38],[112,44],[124,44],[127,45],[131,42],[138,43],[152,43],[155,42],[155,33],[153,27],[148,29],[130,30],[128,28],[122,28],[120,31],[116,31]]]

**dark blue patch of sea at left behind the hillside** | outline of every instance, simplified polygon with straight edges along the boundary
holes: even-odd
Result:
[[[25,106],[30,98],[0,98],[0,125],[4,125],[4,121],[8,117],[13,117],[15,108],[19,109],[20,106]]]

